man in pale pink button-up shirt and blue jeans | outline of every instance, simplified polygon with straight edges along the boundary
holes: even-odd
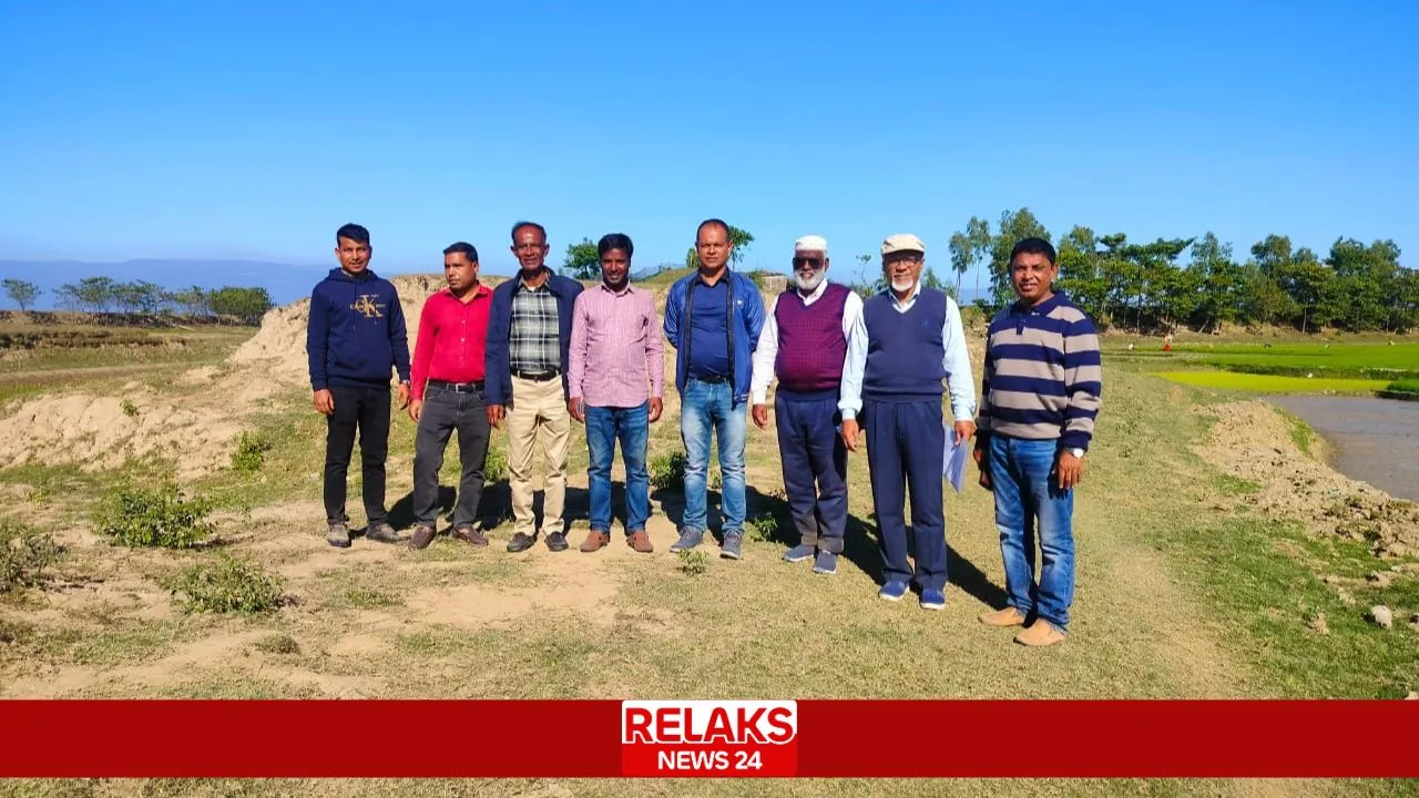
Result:
[[[654,550],[646,534],[650,515],[646,449],[650,425],[663,409],[664,345],[654,297],[630,284],[633,250],[627,236],[603,236],[596,244],[602,284],[582,291],[572,311],[566,408],[586,425],[590,450],[592,531],[582,544],[587,552],[612,538],[612,461],[617,439],[626,460],[626,544],[640,552]]]

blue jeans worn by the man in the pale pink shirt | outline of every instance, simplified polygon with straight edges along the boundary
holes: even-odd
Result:
[[[622,442],[626,460],[626,534],[646,528],[650,515],[650,474],[646,471],[646,447],[650,443],[650,406],[586,408],[586,446],[592,464],[586,470],[592,497],[592,528],[612,531],[612,461],[616,442]]]

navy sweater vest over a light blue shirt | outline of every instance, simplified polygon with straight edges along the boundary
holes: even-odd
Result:
[[[922,288],[907,312],[897,312],[888,294],[863,304],[867,324],[867,371],[863,396],[880,402],[941,400],[946,378],[941,361],[945,342],[946,295]]]

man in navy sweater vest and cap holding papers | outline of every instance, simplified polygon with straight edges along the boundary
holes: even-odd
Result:
[[[927,247],[912,234],[883,241],[883,274],[890,283],[863,305],[867,351],[850,358],[843,395],[861,386],[867,469],[881,538],[885,584],[878,595],[901,601],[908,581],[921,606],[946,606],[946,525],[941,466],[946,430],[941,422],[941,381],[951,389],[955,434],[964,446],[975,434],[975,386],[956,302],[921,284]],[[854,413],[856,415],[856,413]],[[857,450],[858,423],[843,412],[843,440]],[[917,567],[907,564],[905,487],[911,488],[911,530]]]

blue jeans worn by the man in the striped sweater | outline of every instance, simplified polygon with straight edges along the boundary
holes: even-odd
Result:
[[[1074,601],[1074,491],[1061,490],[1053,474],[1057,440],[990,436],[990,487],[995,525],[1000,532],[1005,589],[1010,606],[1069,626]],[[1034,538],[1039,532],[1039,585],[1034,582]]]

